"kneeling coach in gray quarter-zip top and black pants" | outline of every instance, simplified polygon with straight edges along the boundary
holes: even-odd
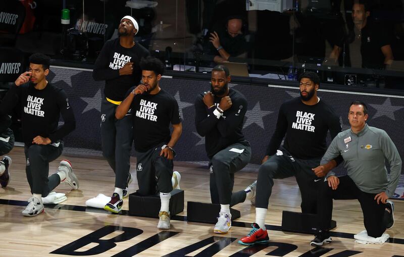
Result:
[[[331,242],[329,227],[332,199],[358,199],[368,236],[380,237],[394,224],[393,202],[387,200],[394,193],[400,172],[401,159],[386,131],[366,124],[368,108],[364,102],[354,101],[349,107],[350,129],[340,132],[328,147],[321,165],[313,169],[317,176],[327,174],[318,199],[319,233],[311,245]],[[348,174],[336,177],[334,158],[341,155]],[[387,178],[385,160],[390,164]],[[330,172],[329,172],[330,171]]]

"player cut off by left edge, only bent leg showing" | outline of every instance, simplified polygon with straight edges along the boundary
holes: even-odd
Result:
[[[13,149],[14,146],[14,134],[10,129],[11,118],[7,114],[0,117],[0,156],[6,155]],[[9,166],[11,164],[11,158],[5,156],[0,161],[0,185],[6,187],[10,182]]]

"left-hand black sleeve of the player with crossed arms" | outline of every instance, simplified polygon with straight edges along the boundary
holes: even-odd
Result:
[[[196,132],[200,136],[206,136],[219,122],[219,119],[213,114],[215,108],[208,109],[201,95],[196,97],[194,106]]]

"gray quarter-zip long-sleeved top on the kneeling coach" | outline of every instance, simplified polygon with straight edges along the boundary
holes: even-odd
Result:
[[[401,159],[386,131],[365,124],[355,134],[351,129],[340,132],[331,142],[321,164],[337,156],[344,159],[348,176],[360,190],[367,193],[394,194],[401,173]],[[390,164],[390,181],[387,178],[385,160]],[[330,171],[327,177],[335,175]]]

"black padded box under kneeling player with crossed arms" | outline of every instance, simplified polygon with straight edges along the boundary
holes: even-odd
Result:
[[[216,224],[220,212],[220,204],[206,202],[187,202],[187,218],[189,222]],[[240,218],[240,211],[230,208],[231,220]]]

